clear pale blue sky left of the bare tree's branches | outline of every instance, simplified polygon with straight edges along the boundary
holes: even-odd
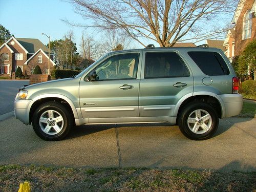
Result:
[[[41,35],[44,32],[51,40],[61,39],[72,30],[75,35],[77,48],[83,28],[72,27],[60,19],[84,23],[82,17],[76,14],[73,6],[59,0],[0,0],[0,24],[21,38],[38,38],[44,44],[48,38]],[[92,33],[87,29],[87,33]]]

